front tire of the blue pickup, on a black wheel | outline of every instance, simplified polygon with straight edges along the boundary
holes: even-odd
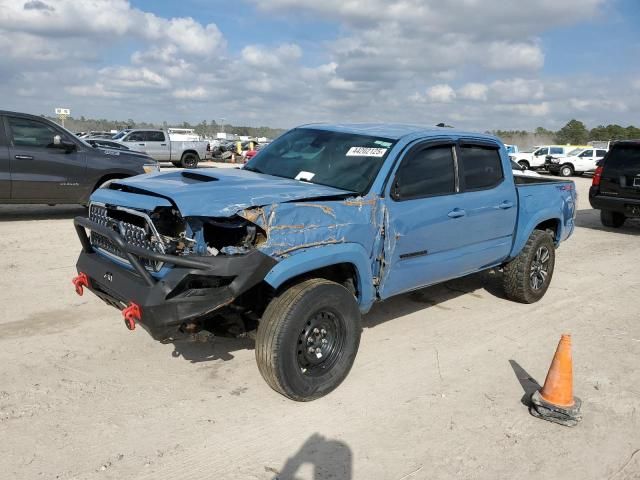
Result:
[[[303,370],[300,358],[306,355],[302,349],[309,341],[303,340],[305,329],[311,330],[323,315],[338,319],[342,328],[339,348],[318,360],[328,362],[324,367],[320,364]],[[319,278],[295,284],[269,303],[258,326],[256,361],[260,374],[271,388],[291,400],[307,402],[323,397],[349,374],[361,330],[358,304],[345,287]]]

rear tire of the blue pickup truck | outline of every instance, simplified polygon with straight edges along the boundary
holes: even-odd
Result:
[[[540,249],[549,254],[547,274],[540,288],[532,286],[533,264]],[[555,245],[549,232],[534,230],[522,251],[504,266],[502,285],[507,297],[520,303],[535,303],[549,288],[555,267]]]

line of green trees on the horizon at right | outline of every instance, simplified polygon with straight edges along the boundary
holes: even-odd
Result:
[[[623,127],[621,125],[598,125],[588,129],[580,120],[572,119],[557,131],[538,127],[533,132],[526,130],[493,130],[493,135],[510,142],[518,137],[534,135],[541,138],[549,138],[553,143],[584,145],[589,141],[631,140],[640,138],[640,128],[633,125]]]

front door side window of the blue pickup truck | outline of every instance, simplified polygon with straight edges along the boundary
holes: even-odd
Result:
[[[410,153],[396,174],[393,196],[396,200],[409,200],[455,191],[455,168],[449,145]]]

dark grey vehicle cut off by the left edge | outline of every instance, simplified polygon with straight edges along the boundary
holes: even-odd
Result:
[[[94,148],[46,118],[0,110],[0,203],[80,203],[116,178],[159,171],[145,153]]]

